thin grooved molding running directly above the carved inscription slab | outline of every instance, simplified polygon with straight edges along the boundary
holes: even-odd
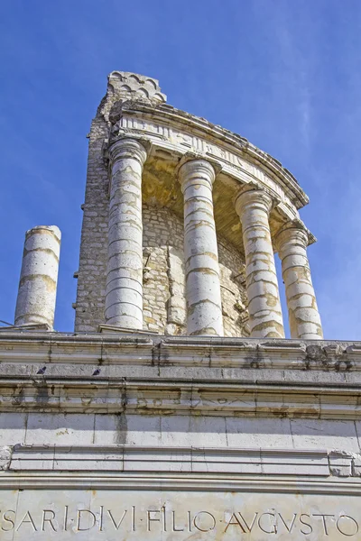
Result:
[[[0,488],[10,489],[88,489],[122,491],[234,491],[281,494],[336,494],[359,496],[361,482],[310,480],[308,476],[284,477],[247,475],[205,475],[173,472],[0,472]]]

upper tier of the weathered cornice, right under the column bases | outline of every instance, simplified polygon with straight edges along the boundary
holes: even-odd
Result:
[[[361,371],[361,343],[222,338],[116,332],[73,335],[0,333],[2,362],[143,364],[262,368],[349,373]]]

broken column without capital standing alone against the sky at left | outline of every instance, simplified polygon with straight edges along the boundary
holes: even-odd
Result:
[[[15,326],[54,325],[60,256],[60,229],[38,225],[25,234],[15,308]]]

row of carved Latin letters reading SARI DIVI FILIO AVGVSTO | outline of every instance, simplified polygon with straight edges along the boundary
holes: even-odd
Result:
[[[183,534],[217,531],[228,538],[247,536],[252,532],[266,536],[286,534],[292,538],[295,533],[309,539],[314,531],[323,536],[356,537],[361,524],[360,516],[355,518],[346,513],[282,513],[277,509],[244,511],[215,511],[214,509],[190,509],[178,512],[176,509],[137,509],[135,505],[114,509],[99,506],[98,509],[69,509],[65,505],[61,510],[26,509],[20,516],[14,509],[5,509],[0,513],[2,532],[106,532],[117,531],[123,536],[129,532],[146,531],[153,534],[165,532]],[[119,538],[122,538],[120,536]],[[358,536],[356,538],[359,538]]]

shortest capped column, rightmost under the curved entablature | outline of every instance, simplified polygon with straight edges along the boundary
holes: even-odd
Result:
[[[322,326],[310,278],[308,243],[309,235],[301,224],[286,225],[275,238],[282,261],[291,337],[321,340]]]

